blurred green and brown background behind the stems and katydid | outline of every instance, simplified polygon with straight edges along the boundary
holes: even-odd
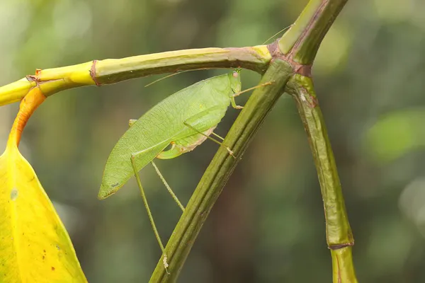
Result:
[[[195,47],[242,47],[295,21],[307,0],[2,0],[0,85],[46,69]],[[313,74],[356,246],[360,282],[425,282],[425,2],[348,1]],[[108,154],[171,93],[224,71],[152,76],[50,97],[21,151],[72,237],[89,282],[147,282],[160,250],[134,181],[96,199]],[[259,75],[243,71],[243,86]],[[238,102],[243,103],[244,98]],[[0,109],[5,146],[17,103]],[[237,115],[218,127],[225,134]],[[157,161],[184,203],[217,145]],[[142,171],[165,241],[181,212]],[[319,183],[292,98],[283,96],[215,205],[179,282],[331,282]]]

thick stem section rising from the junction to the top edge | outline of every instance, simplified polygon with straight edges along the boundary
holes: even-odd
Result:
[[[298,64],[310,65],[324,35],[348,0],[310,0],[278,41],[280,52]]]

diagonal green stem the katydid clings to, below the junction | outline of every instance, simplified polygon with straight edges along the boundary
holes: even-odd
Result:
[[[223,142],[234,151],[236,157],[230,156],[227,149],[220,146],[166,245],[170,275],[167,275],[162,260],[159,260],[149,282],[174,282],[179,276],[213,204],[291,75],[292,68],[287,62],[281,59],[271,62],[259,84],[273,83],[256,88]]]

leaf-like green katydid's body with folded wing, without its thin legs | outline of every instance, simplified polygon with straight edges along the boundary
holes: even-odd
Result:
[[[239,71],[215,76],[165,98],[140,117],[118,140],[106,162],[99,199],[117,192],[156,158],[174,158],[201,144],[225,116],[241,90]],[[169,144],[179,151],[164,151]],[[164,152],[162,152],[164,151]]]

